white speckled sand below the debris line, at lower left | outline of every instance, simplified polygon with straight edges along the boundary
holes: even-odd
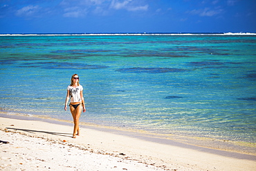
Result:
[[[94,154],[68,143],[0,132],[0,170],[158,170],[152,165]],[[159,169],[160,170],[160,169]]]

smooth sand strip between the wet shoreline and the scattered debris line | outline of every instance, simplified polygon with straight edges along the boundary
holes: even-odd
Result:
[[[0,115],[1,130],[6,129],[8,133],[15,134],[17,132],[27,137],[65,142],[65,145],[74,144],[93,152],[93,154],[107,154],[146,165],[154,165],[158,169],[254,170],[256,165],[255,155],[201,148],[138,132],[91,125],[81,125],[81,136],[72,139],[72,123],[63,124],[61,121],[51,121],[54,123],[50,123],[46,119],[31,119],[30,117],[27,117],[27,120],[21,119],[21,117],[10,119],[8,116],[10,115],[3,117],[3,113]],[[1,141],[5,140],[1,139]]]

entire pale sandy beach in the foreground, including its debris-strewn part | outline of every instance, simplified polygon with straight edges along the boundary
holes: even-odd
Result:
[[[0,170],[255,170],[256,156],[132,132],[0,117]]]

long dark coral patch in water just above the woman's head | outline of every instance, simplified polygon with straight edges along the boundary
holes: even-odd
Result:
[[[83,63],[69,63],[69,62],[37,62],[37,63],[24,63],[24,66],[28,68],[44,68],[44,69],[73,69],[73,70],[89,70],[89,69],[102,69],[108,68],[108,66],[99,65],[86,65]]]

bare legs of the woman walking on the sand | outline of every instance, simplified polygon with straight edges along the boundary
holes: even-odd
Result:
[[[73,138],[76,138],[75,135],[80,135],[79,119],[82,112],[82,105],[78,105],[76,109],[71,105],[70,110],[71,110],[71,114],[74,122]]]

